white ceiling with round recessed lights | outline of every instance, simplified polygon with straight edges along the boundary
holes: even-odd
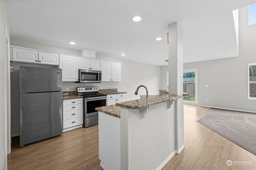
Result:
[[[161,66],[167,65],[168,25],[176,21],[184,29],[184,63],[238,57],[232,10],[255,2],[6,0],[6,8],[12,38]]]

